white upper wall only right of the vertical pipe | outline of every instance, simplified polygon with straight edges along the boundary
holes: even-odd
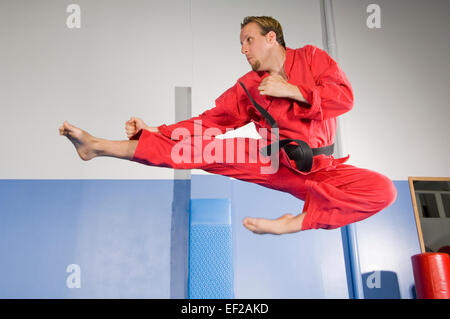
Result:
[[[381,8],[369,29],[366,8]],[[333,1],[339,62],[355,92],[343,116],[350,164],[394,180],[450,176],[448,0]]]

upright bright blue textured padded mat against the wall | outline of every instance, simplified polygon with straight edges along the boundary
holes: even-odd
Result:
[[[234,298],[231,233],[229,199],[191,200],[189,298]]]

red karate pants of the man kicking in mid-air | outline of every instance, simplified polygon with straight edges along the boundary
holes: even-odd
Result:
[[[201,143],[194,142],[195,138],[199,138]],[[396,199],[397,191],[390,179],[377,172],[343,164],[332,156],[329,167],[303,175],[292,169],[285,151],[281,150],[278,170],[273,174],[261,174],[261,167],[268,168],[270,164],[264,158],[261,160],[259,154],[254,156],[253,152],[249,153],[249,144],[256,140],[249,138],[230,140],[233,140],[234,148],[225,147],[226,140],[214,137],[211,139],[200,136],[189,137],[180,142],[160,133],[143,130],[131,160],[145,165],[174,169],[203,169],[210,173],[290,193],[305,201],[303,212],[307,214],[303,220],[302,230],[342,227],[372,216]],[[223,145],[223,162],[208,163],[209,160],[206,161],[202,155],[205,151],[211,150],[213,145],[219,144]],[[172,149],[175,145],[178,149],[180,146],[190,149],[189,163],[177,163],[178,160],[173,160]],[[243,147],[240,146],[243,145],[245,152],[239,154],[240,156],[245,154],[245,161],[238,163],[237,150],[242,150]],[[217,149],[216,147],[215,153]],[[231,151],[233,154],[230,154]],[[229,163],[227,159],[234,160]]]

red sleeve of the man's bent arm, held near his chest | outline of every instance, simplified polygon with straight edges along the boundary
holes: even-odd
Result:
[[[350,111],[353,107],[353,89],[344,72],[326,51],[311,45],[305,49],[313,83],[310,87],[298,85],[309,106],[294,101],[295,115],[326,120]]]

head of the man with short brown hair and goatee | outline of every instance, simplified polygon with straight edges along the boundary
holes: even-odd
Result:
[[[245,17],[241,23],[241,52],[253,71],[267,70],[270,56],[280,48],[286,49],[283,29],[272,17]]]

